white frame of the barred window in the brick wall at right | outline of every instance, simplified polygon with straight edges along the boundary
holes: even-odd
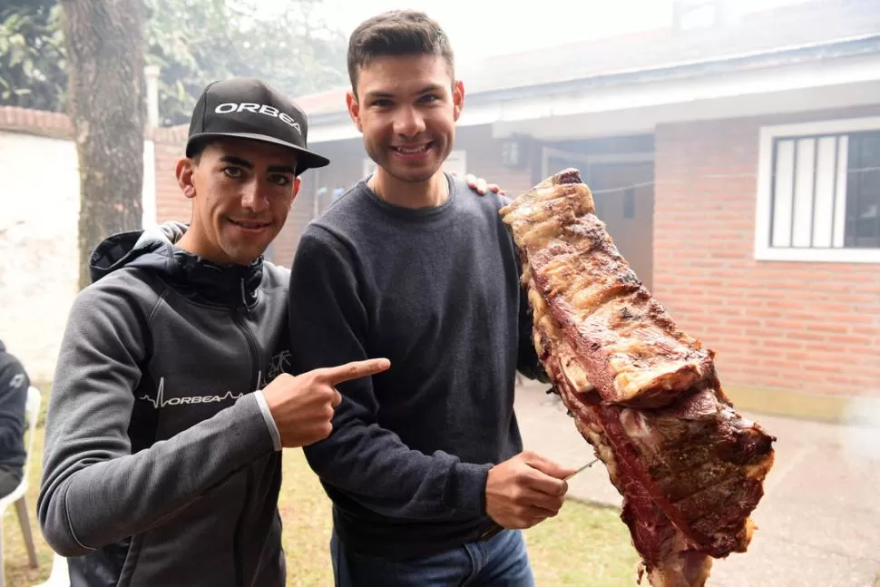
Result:
[[[779,124],[764,126],[759,132],[758,145],[758,202],[755,216],[755,259],[773,261],[805,261],[834,263],[880,263],[880,249],[846,249],[844,247],[819,248],[782,248],[773,247],[770,243],[770,221],[773,197],[773,148],[779,137],[797,137],[818,134],[844,134],[847,132],[880,131],[880,116],[865,118],[841,119],[823,122],[805,122],[797,124]],[[817,142],[814,143],[817,145]],[[842,152],[846,155],[846,142]],[[796,147],[797,148],[797,147]],[[814,148],[818,148],[814,146]],[[838,152],[839,153],[839,152]],[[838,159],[839,161],[839,159]],[[841,171],[842,170],[842,171]],[[838,193],[843,193],[843,204],[837,205],[838,210],[846,210],[846,158],[838,162],[837,175]],[[814,210],[815,214],[815,210]],[[841,225],[843,216],[838,215]],[[842,230],[840,228],[841,238]],[[837,232],[837,230],[835,230]],[[836,236],[836,234],[835,234]]]

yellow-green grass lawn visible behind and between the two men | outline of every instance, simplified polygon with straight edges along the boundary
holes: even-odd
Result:
[[[43,432],[41,423],[34,438],[35,455],[43,454]],[[39,568],[30,569],[27,565],[15,508],[10,506],[3,521],[5,577],[9,587],[29,587],[45,581],[52,565],[52,551],[42,539],[34,512],[40,481],[39,458],[34,460],[28,476],[27,506]],[[329,501],[301,450],[285,451],[280,510],[288,586],[332,585]],[[613,510],[569,501],[557,517],[526,531],[525,538],[540,587],[635,585],[638,557],[629,532]]]

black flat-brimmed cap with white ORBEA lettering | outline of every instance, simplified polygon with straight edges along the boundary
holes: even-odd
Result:
[[[306,113],[284,93],[253,77],[235,77],[208,84],[190,121],[186,155],[210,139],[238,137],[272,142],[297,153],[297,175],[328,165],[327,157],[306,148]]]

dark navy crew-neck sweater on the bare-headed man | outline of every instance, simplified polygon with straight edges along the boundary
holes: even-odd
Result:
[[[522,451],[515,371],[544,378],[504,199],[450,183],[442,205],[411,210],[361,182],[294,259],[294,370],[391,360],[338,387],[333,433],[305,449],[360,553],[402,559],[483,533],[486,474]]]

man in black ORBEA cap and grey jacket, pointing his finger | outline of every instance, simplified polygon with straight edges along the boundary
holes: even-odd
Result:
[[[326,437],[368,359],[284,373],[287,269],[261,257],[328,160],[253,79],[212,83],[177,165],[191,223],[117,234],[73,302],[46,419],[38,517],[72,587],[285,584],[281,448]]]

